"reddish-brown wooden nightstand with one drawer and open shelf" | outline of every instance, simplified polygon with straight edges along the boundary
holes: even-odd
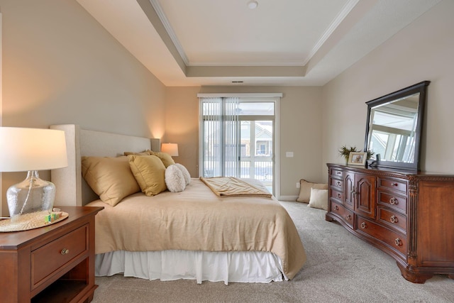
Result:
[[[103,207],[62,206],[65,220],[0,233],[1,302],[90,302],[94,216]]]

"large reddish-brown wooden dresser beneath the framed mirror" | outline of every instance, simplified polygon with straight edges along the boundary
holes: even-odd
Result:
[[[397,260],[406,280],[454,279],[454,175],[328,164],[326,220]]]

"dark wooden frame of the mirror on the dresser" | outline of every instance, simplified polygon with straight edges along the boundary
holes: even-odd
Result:
[[[424,107],[426,104],[426,95],[427,87],[430,81],[423,81],[406,87],[404,89],[399,89],[397,92],[392,92],[391,94],[384,95],[383,97],[367,101],[367,121],[366,121],[366,136],[364,142],[364,151],[367,151],[367,142],[369,141],[370,136],[370,113],[372,109],[375,109],[377,106],[382,104],[387,104],[397,99],[402,99],[404,97],[409,97],[412,94],[419,93],[419,104],[418,104],[418,120],[416,121],[416,131],[414,134],[415,144],[414,144],[414,162],[394,162],[394,161],[385,161],[385,160],[374,160],[368,166],[369,167],[378,167],[378,168],[395,168],[402,170],[419,170],[419,154],[421,151],[421,130],[423,126],[423,117],[424,117]],[[373,151],[373,150],[372,150]]]

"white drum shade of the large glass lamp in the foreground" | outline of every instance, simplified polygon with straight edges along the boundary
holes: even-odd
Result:
[[[0,127],[0,172],[67,167],[65,132]]]

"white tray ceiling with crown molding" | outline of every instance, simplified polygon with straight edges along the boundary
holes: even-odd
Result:
[[[77,0],[166,86],[322,86],[440,0]]]

